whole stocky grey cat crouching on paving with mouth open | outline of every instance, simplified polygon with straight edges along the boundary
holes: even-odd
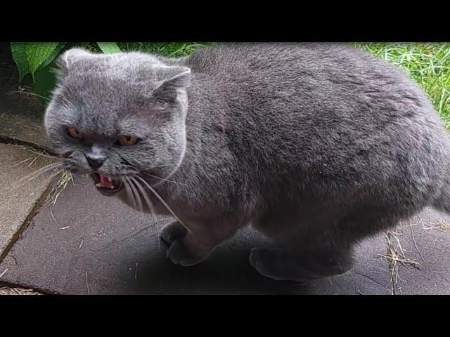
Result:
[[[72,172],[140,211],[172,214],[167,256],[195,265],[249,223],[278,249],[250,264],[308,280],[425,208],[450,212],[448,134],[393,65],[344,44],[224,44],[186,58],[60,58],[46,110]]]

